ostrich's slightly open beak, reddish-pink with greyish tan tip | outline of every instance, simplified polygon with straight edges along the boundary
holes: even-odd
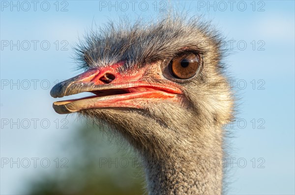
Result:
[[[56,101],[53,108],[59,114],[68,114],[91,108],[144,108],[151,101],[179,101],[178,97],[182,92],[176,85],[141,80],[147,68],[135,73],[119,73],[118,69],[122,65],[123,62],[120,62],[108,67],[90,69],[56,84],[50,91],[52,97],[82,92],[91,92],[94,96]],[[154,73],[154,76],[159,74]]]

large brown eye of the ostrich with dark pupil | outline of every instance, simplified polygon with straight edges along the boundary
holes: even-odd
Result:
[[[172,60],[172,73],[181,79],[187,79],[195,75],[200,66],[198,55],[189,54]]]

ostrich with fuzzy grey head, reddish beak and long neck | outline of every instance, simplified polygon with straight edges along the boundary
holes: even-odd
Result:
[[[231,120],[234,105],[221,41],[199,17],[110,23],[76,49],[85,72],[50,92],[94,95],[53,107],[104,122],[127,140],[144,160],[150,195],[221,194],[225,130],[216,124]]]

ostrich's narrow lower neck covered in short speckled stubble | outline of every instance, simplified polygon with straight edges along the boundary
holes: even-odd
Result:
[[[144,157],[149,195],[221,194],[222,143],[217,139],[220,136],[215,138],[204,137],[187,147],[187,152],[179,155],[179,150],[175,150],[164,160]]]

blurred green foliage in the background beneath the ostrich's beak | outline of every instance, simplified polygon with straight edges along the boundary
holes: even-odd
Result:
[[[108,139],[97,126],[73,130],[62,144],[66,169],[40,173],[29,181],[32,195],[140,195],[145,191],[144,171],[129,146]]]

